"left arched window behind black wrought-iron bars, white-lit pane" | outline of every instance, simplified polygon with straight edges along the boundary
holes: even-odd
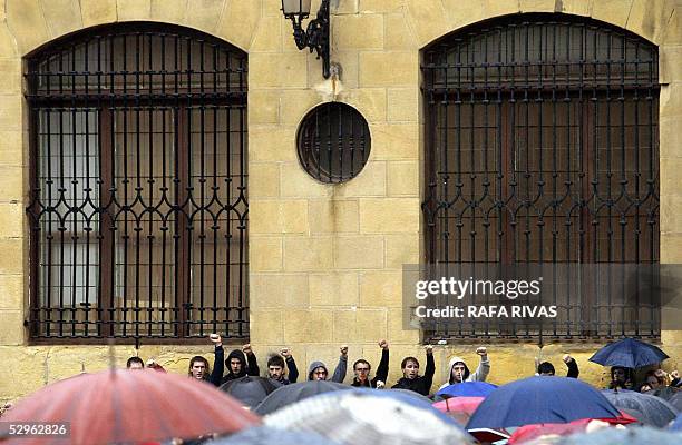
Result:
[[[246,336],[246,55],[129,23],[27,61],[31,337]]]

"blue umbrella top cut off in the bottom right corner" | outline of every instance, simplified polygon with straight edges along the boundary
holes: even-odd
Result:
[[[554,439],[540,438],[524,445],[680,445],[682,434],[651,427],[602,428],[594,433],[574,434]]]

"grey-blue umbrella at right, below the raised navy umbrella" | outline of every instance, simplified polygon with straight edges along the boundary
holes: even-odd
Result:
[[[660,397],[634,390],[604,389],[602,394],[618,409],[632,414],[644,425],[666,426],[678,415],[674,406]]]

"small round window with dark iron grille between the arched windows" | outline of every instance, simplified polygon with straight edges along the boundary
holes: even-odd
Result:
[[[367,120],[353,107],[323,103],[301,122],[296,146],[301,165],[321,182],[339,184],[354,178],[370,152]]]

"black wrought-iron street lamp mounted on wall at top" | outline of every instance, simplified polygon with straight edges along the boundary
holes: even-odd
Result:
[[[322,0],[318,17],[303,31],[301,24],[310,16],[310,3],[311,0],[282,0],[282,12],[293,24],[296,47],[308,48],[310,52],[314,49],[318,59],[322,59],[322,76],[329,79],[329,0]]]

